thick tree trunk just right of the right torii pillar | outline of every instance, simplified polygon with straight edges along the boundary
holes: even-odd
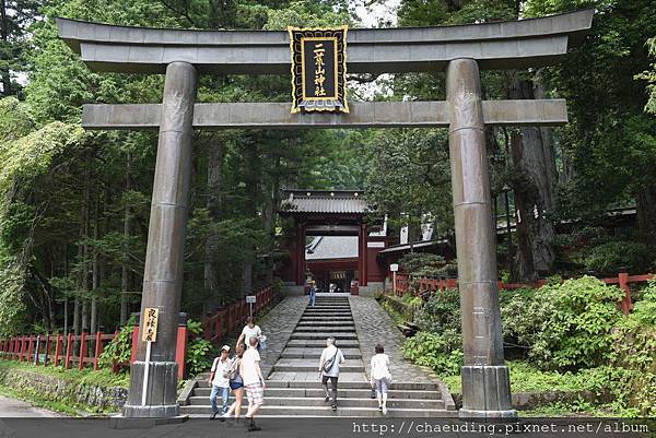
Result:
[[[517,73],[509,88],[511,98],[540,98],[539,82]],[[516,275],[519,281],[535,281],[549,273],[555,253],[555,229],[547,217],[554,206],[555,164],[549,128],[522,128],[511,134],[513,152],[515,208],[517,209]]]

